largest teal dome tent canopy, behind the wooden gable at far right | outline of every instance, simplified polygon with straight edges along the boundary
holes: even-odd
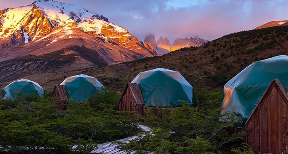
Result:
[[[288,92],[288,56],[281,55],[253,62],[224,86],[221,113],[242,116],[241,126],[250,116],[273,79],[278,79]]]

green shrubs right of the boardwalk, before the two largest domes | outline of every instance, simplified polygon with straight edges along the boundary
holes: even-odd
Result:
[[[138,140],[121,143],[124,151],[136,151],[144,154],[154,151],[157,154],[215,154],[215,153],[251,153],[244,141],[244,133],[228,135],[224,128],[233,126],[239,117],[234,114],[219,115],[219,92],[198,92],[199,105],[160,109],[162,118],[148,110],[144,124],[152,128]],[[226,120],[219,121],[225,117]]]

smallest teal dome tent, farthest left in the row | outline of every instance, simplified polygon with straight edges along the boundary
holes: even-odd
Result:
[[[14,99],[21,95],[33,95],[43,96],[44,90],[43,88],[36,82],[21,79],[17,81],[13,81],[5,88],[3,88],[3,98],[4,99]]]

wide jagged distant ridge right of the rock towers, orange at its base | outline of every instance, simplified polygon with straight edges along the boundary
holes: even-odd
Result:
[[[197,37],[197,36],[195,38],[190,37],[190,39],[188,39],[187,37],[185,39],[178,38],[178,39],[175,39],[171,47],[171,51],[175,51],[183,47],[191,47],[191,46],[198,47],[200,45],[203,45],[206,42],[208,41],[201,39],[200,37]]]

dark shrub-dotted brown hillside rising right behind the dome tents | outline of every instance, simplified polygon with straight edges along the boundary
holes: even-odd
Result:
[[[107,88],[120,92],[139,72],[162,67],[179,71],[196,89],[221,90],[227,81],[252,62],[281,54],[288,54],[288,26],[233,33],[198,48],[184,48],[159,57],[27,78],[52,89],[65,77],[83,73],[97,77]]]

